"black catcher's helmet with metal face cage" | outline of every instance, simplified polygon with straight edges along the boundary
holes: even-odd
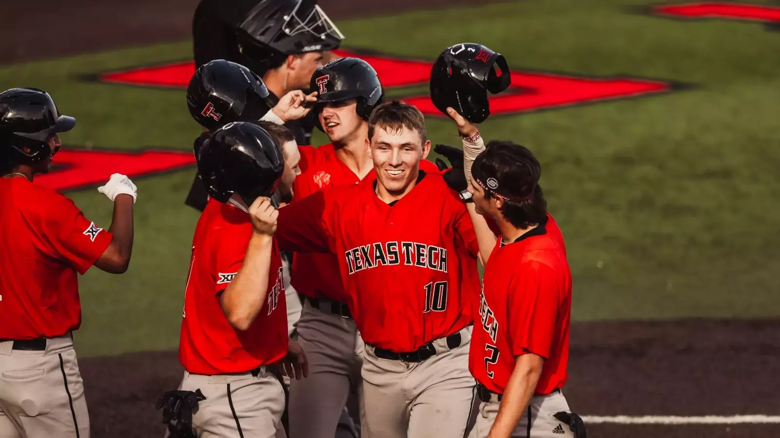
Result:
[[[239,51],[263,72],[288,55],[339,48],[339,28],[316,0],[261,0],[237,26]]]

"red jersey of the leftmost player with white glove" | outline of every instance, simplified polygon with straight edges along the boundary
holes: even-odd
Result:
[[[55,337],[81,326],[78,274],[112,234],[72,200],[27,178],[0,178],[0,338]]]

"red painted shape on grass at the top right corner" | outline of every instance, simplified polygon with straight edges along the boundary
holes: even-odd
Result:
[[[744,3],[706,2],[683,5],[657,5],[653,12],[683,18],[746,19],[780,23],[780,7]]]

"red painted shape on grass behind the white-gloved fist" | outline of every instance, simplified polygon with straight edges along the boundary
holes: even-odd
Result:
[[[85,185],[103,185],[115,173],[134,178],[193,164],[195,157],[186,152],[149,150],[128,153],[63,148],[55,155],[51,171],[45,175],[36,175],[35,183],[49,189],[66,191]]]

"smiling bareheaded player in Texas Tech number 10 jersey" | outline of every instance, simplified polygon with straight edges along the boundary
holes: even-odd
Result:
[[[473,405],[467,345],[479,294],[472,224],[441,175],[420,170],[431,143],[417,108],[379,105],[367,134],[375,178],[280,209],[279,246],[337,255],[346,304],[366,345],[362,433],[463,436]]]

